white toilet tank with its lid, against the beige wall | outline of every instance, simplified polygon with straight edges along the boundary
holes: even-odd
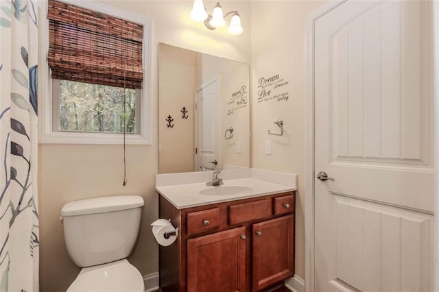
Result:
[[[139,234],[143,198],[97,197],[65,204],[64,239],[75,265],[89,267],[126,258]]]

